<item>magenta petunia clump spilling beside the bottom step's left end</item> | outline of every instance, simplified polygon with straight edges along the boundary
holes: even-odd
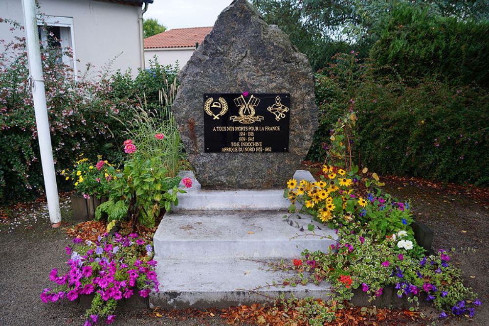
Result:
[[[136,233],[122,236],[107,233],[98,241],[73,240],[73,247],[66,247],[70,257],[69,270],[60,273],[54,268],[49,279],[54,288],[45,288],[40,297],[44,303],[59,300],[74,301],[81,295],[94,295],[87,310],[84,326],[96,324],[102,318],[110,324],[117,303],[133,295],[148,297],[151,291],[158,292],[153,260],[153,246]]]

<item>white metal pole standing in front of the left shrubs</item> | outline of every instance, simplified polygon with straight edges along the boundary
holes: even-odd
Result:
[[[36,4],[34,0],[22,0],[25,21],[25,35],[27,44],[27,59],[31,74],[32,99],[36,113],[37,135],[39,150],[43,165],[44,185],[46,190],[49,219],[53,227],[61,223],[61,212],[54,171],[53,150],[51,135],[49,133],[49,120],[47,117],[46,94],[44,93],[43,66],[41,65],[41,49],[39,48],[39,35],[37,29]]]

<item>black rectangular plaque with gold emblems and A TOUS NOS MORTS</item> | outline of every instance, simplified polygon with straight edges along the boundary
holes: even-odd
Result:
[[[204,94],[204,152],[288,152],[290,110],[290,94]]]

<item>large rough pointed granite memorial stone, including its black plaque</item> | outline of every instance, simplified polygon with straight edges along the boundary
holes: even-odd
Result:
[[[235,0],[179,80],[173,111],[202,187],[283,187],[317,128],[311,66],[289,37]]]

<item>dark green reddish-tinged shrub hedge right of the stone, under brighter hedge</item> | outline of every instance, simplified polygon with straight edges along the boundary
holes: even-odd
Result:
[[[357,112],[354,162],[380,173],[487,185],[487,89],[437,79],[416,85],[389,66],[339,55],[317,78],[320,127],[308,158],[321,161],[324,139],[343,112]],[[361,143],[361,146],[358,145]]]

